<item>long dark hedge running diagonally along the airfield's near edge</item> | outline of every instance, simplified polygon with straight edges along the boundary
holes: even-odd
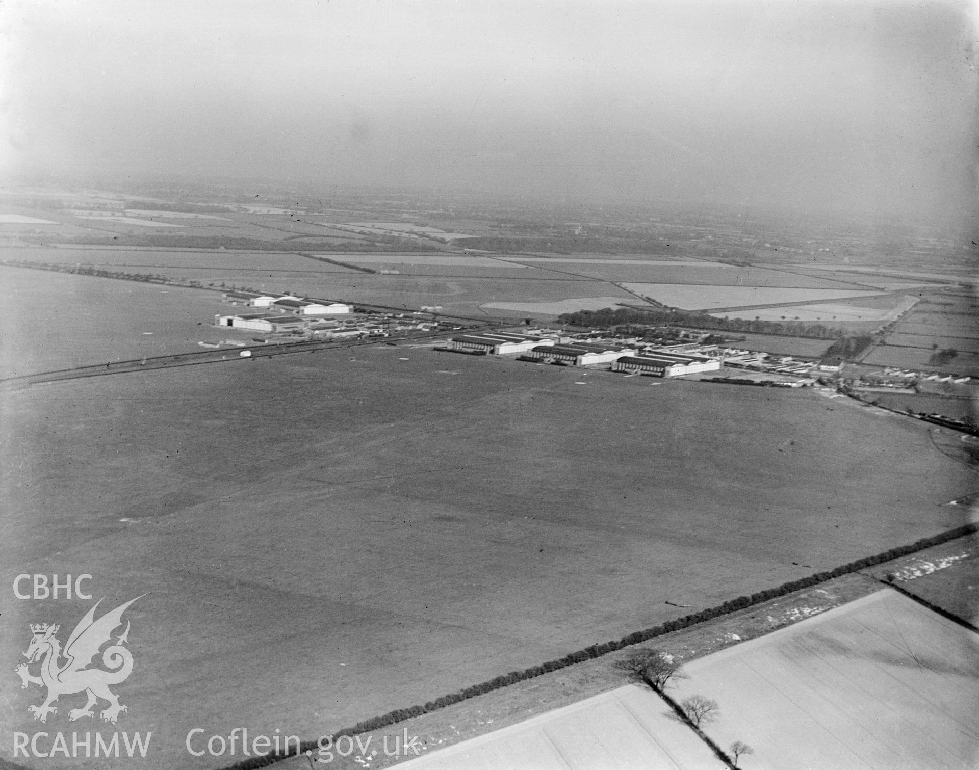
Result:
[[[976,531],[979,531],[979,523],[965,524],[963,526],[956,527],[955,529],[949,529],[945,532],[941,532],[940,534],[933,535],[932,537],[922,538],[909,545],[899,546],[875,556],[868,556],[863,559],[858,559],[856,562],[851,562],[848,565],[837,566],[835,569],[831,569],[829,571],[816,572],[816,574],[809,575],[808,577],[802,577],[798,580],[790,580],[787,583],[782,583],[776,588],[768,588],[764,591],[754,593],[751,596],[739,596],[737,599],[731,599],[724,602],[723,605],[719,605],[717,607],[712,607],[707,610],[701,610],[699,612],[694,612],[693,614],[678,617],[676,620],[667,620],[661,625],[646,628],[642,631],[633,631],[628,636],[624,636],[622,639],[614,639],[602,644],[591,645],[590,647],[586,647],[583,650],[579,650],[578,652],[571,653],[556,660],[548,660],[547,662],[540,663],[539,665],[533,665],[530,668],[524,668],[522,670],[511,671],[508,674],[502,674],[494,679],[490,679],[488,682],[467,687],[465,690],[460,690],[457,693],[444,695],[442,698],[438,698],[435,701],[429,701],[424,705],[412,705],[408,708],[397,708],[396,710],[390,711],[387,714],[365,719],[362,722],[357,722],[355,725],[353,725],[353,727],[346,727],[343,730],[340,730],[339,732],[335,733],[333,737],[334,739],[337,739],[345,735],[360,735],[362,733],[369,733],[373,730],[378,730],[382,727],[389,727],[397,722],[403,722],[405,719],[410,719],[414,716],[421,716],[429,711],[437,711],[438,709],[452,705],[453,703],[467,701],[470,698],[475,698],[476,696],[490,693],[493,690],[499,690],[503,687],[516,684],[517,682],[522,682],[526,679],[533,679],[541,674],[545,674],[550,671],[557,671],[569,665],[581,663],[584,660],[602,657],[608,655],[609,653],[622,650],[623,648],[641,644],[642,642],[647,642],[650,639],[654,639],[658,636],[673,633],[674,631],[688,628],[691,625],[697,625],[705,620],[711,620],[715,617],[729,614],[730,612],[744,610],[754,605],[768,602],[771,599],[777,599],[796,591],[801,591],[804,588],[810,588],[818,583],[831,580],[834,577],[850,574],[851,572],[865,569],[868,566],[876,566],[885,562],[890,562],[892,559],[899,559],[903,556],[913,554],[916,551],[921,551],[925,548],[947,543],[950,540],[955,540],[957,537],[972,534]],[[316,748],[317,743],[315,741],[306,741],[302,744],[300,750],[315,751]],[[286,754],[283,754],[281,756],[269,755],[254,757],[252,759],[247,759],[243,762],[232,765],[230,768],[227,768],[227,770],[252,770],[253,768],[265,767],[284,759],[286,756]]]

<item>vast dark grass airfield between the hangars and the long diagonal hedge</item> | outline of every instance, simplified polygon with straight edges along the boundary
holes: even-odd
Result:
[[[327,734],[913,541],[976,484],[926,427],[810,391],[410,347],[2,397],[0,578],[146,594],[118,726],[154,731],[144,766],[226,764],[187,757],[194,727]],[[0,596],[3,659],[89,606]],[[6,756],[37,729],[16,684]]]

